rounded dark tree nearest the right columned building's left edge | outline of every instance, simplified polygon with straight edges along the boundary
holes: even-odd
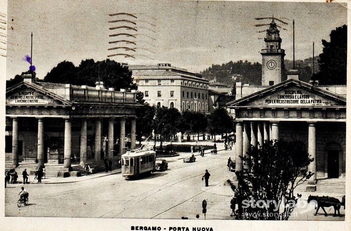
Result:
[[[228,137],[228,133],[234,131],[234,119],[225,108],[216,109],[208,117],[207,129],[210,133],[215,134],[215,141],[216,133],[226,133]]]

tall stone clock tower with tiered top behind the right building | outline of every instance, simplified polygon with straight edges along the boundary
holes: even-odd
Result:
[[[264,41],[266,48],[261,50],[262,86],[275,85],[282,81],[285,51],[280,49],[281,38],[274,18],[272,18]]]

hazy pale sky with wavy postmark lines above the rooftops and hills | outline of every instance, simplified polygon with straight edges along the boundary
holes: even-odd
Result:
[[[59,62],[105,60],[108,55],[128,64],[170,63],[200,72],[212,64],[248,60],[260,62],[266,24],[278,23],[285,59],[292,60],[292,20],[295,20],[295,59],[322,52],[321,40],[331,30],[347,24],[345,3],[174,1],[174,0],[8,0],[6,79],[27,71],[30,55],[42,79]],[[113,13],[129,13],[110,16]],[[135,18],[136,17],[136,18]],[[128,20],[109,22],[111,20]],[[135,23],[135,24],[134,24]],[[110,27],[128,26],[109,29]],[[135,31],[137,30],[137,31]],[[113,34],[127,33],[132,36]],[[133,43],[111,41],[127,40]],[[133,50],[109,48],[128,47]]]

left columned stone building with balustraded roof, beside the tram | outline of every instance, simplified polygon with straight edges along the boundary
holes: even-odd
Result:
[[[116,164],[126,148],[126,121],[135,148],[139,106],[135,91],[105,89],[102,82],[96,87],[34,82],[25,74],[23,82],[6,89],[6,168],[34,164],[67,173],[106,158]]]

